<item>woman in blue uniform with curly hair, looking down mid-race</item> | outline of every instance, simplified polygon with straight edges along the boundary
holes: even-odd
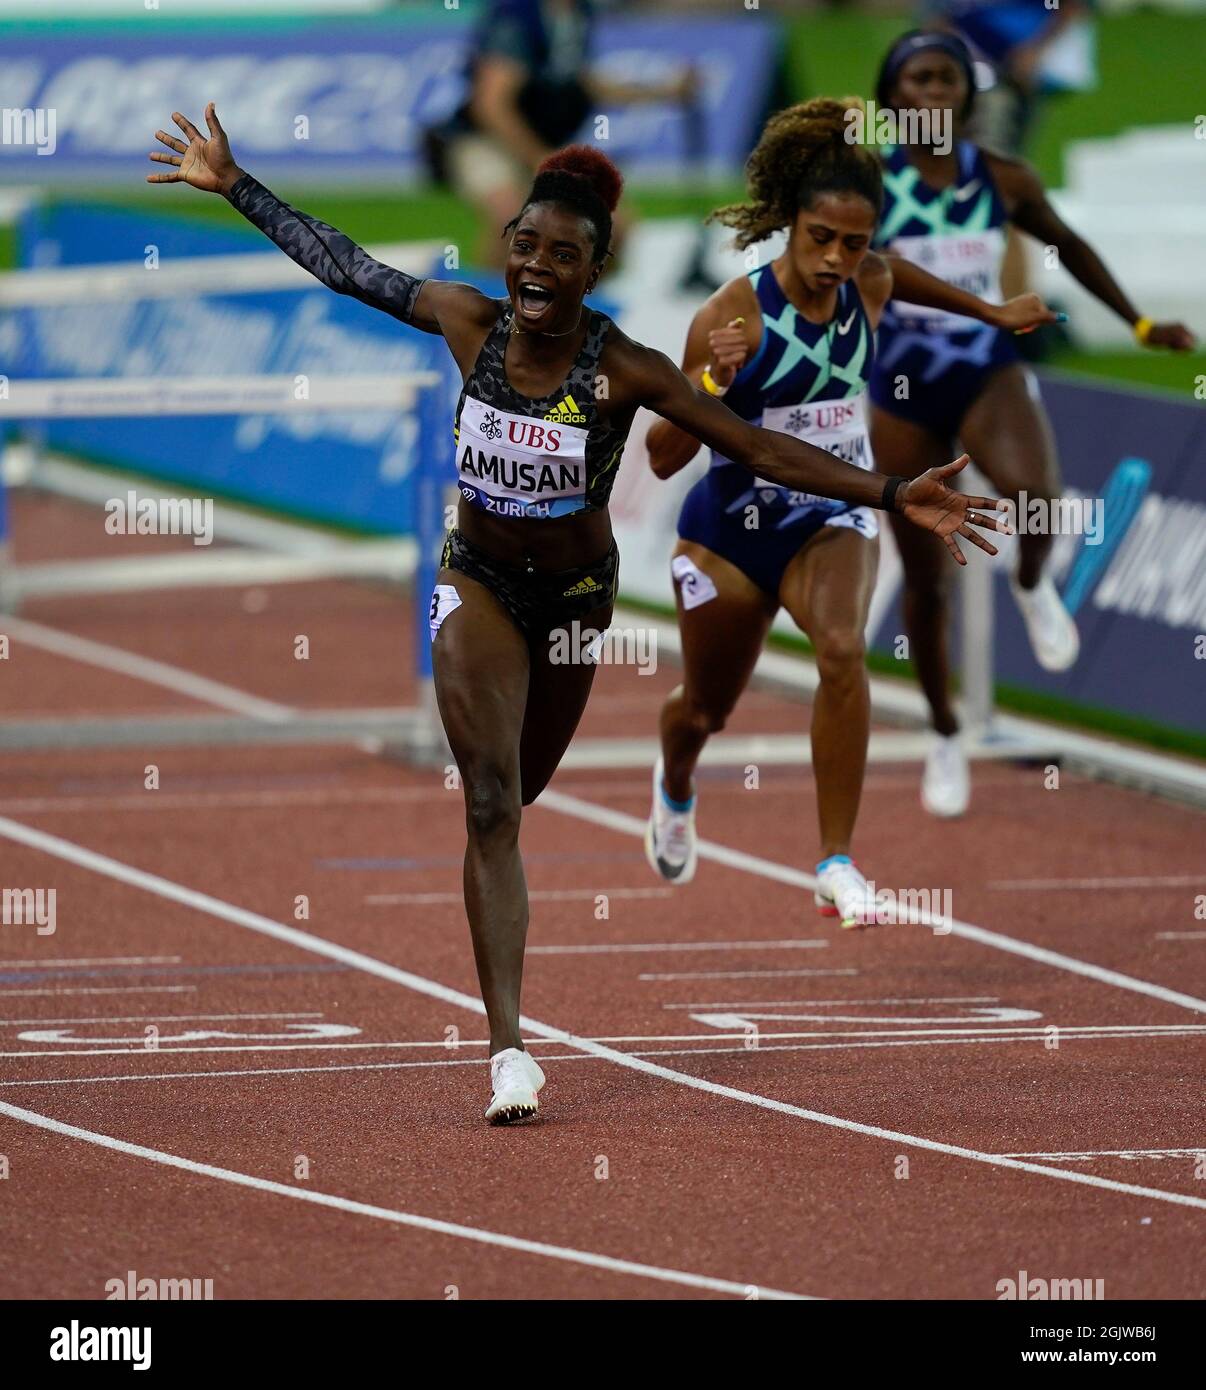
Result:
[[[881,164],[874,150],[848,139],[854,110],[818,99],[767,124],[749,161],[750,200],[716,215],[736,229],[739,247],[786,228],[786,249],[700,309],[684,371],[743,420],[870,468],[866,388],[893,271],[910,295],[986,322],[1031,328],[1055,316],[1034,295],[988,304],[870,250]],[[663,478],[697,448],[677,424],[659,423],[649,432],[650,464]],[[686,496],[678,534],[671,571],[684,682],[661,712],[649,862],[671,883],[691,881],[692,773],[745,689],[782,606],[811,639],[820,674],[811,726],[821,831],[816,901],[842,926],[867,924],[874,902],[850,859],[850,840],[870,733],[863,630],[875,584],[875,513],[752,477],[713,449],[711,467]]]

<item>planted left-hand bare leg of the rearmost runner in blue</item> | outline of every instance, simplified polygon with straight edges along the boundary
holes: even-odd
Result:
[[[871,450],[881,473],[916,478],[925,468],[955,457],[950,442],[911,420],[871,407]],[[950,621],[950,587],[955,566],[938,537],[892,517],[892,534],[904,567],[904,631],[909,652],[930,702],[930,717],[939,734],[953,734],[959,720],[950,703],[950,666],[946,635]]]

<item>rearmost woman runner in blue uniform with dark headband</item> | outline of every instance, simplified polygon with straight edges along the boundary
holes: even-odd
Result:
[[[879,71],[877,104],[885,111],[928,114],[931,142],[902,143],[888,154],[875,246],[999,302],[1006,228],[1013,222],[1055,247],[1064,270],[1125,318],[1141,343],[1180,352],[1192,348],[1193,335],[1182,324],[1155,324],[1138,313],[1096,252],[1052,208],[1027,164],[961,139],[939,152],[945,142],[934,136],[941,135],[943,121],[959,133],[974,93],[971,58],[953,35],[916,31],[892,46]],[[999,327],[934,313],[898,295],[879,325],[871,402],[871,443],[885,473],[913,477],[948,457],[957,439],[1003,495],[1017,499],[1025,492],[1030,503],[1048,502],[1059,492],[1059,464],[1038,384],[1021,364],[1013,336]],[[909,530],[896,528],[904,564],[904,624],[935,731],[921,801],[936,816],[959,816],[971,785],[948,680],[949,574],[941,550]],[[1027,528],[1011,589],[1035,659],[1045,670],[1062,671],[1075,662],[1080,639],[1043,570],[1050,546],[1049,534]]]

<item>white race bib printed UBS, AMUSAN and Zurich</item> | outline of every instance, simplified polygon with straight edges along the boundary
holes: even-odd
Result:
[[[506,517],[560,517],[586,506],[586,434],[577,425],[514,416],[465,396],[457,435],[457,486]]]

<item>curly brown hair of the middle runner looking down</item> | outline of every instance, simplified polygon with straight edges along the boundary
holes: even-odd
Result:
[[[734,242],[745,250],[791,227],[820,193],[856,193],[878,218],[884,206],[879,156],[852,138],[854,115],[863,110],[854,96],[813,97],[773,115],[746,161],[749,200],[718,207],[709,221],[732,227]]]

